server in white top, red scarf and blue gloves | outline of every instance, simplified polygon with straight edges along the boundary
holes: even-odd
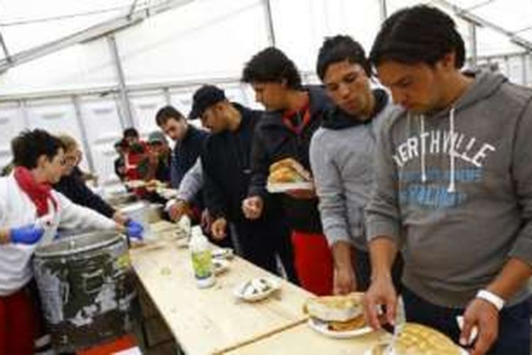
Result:
[[[65,153],[46,131],[25,131],[11,142],[13,172],[0,178],[0,355],[33,354],[35,317],[28,283],[38,244],[53,240],[57,227],[116,229],[92,209],[73,204],[51,189],[59,181]],[[130,222],[131,236],[141,227]]]

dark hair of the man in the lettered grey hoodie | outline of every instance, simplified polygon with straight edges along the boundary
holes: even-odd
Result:
[[[460,69],[465,62],[465,45],[453,18],[433,6],[418,5],[393,13],[382,23],[370,62],[375,66],[387,60],[433,66],[453,51],[455,67]]]

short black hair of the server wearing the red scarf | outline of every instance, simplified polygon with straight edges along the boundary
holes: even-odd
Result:
[[[60,149],[65,150],[60,139],[43,129],[22,131],[11,140],[13,164],[28,169],[37,168],[37,160],[42,155],[52,160]]]

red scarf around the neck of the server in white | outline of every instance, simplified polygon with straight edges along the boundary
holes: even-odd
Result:
[[[52,204],[57,209],[57,201],[52,197],[50,184],[36,182],[30,170],[21,166],[14,169],[14,176],[18,186],[21,187],[23,192],[26,192],[26,195],[35,204],[38,217],[48,214],[48,200],[52,200]]]

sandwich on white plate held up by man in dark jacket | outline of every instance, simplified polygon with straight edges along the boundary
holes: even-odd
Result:
[[[271,193],[314,190],[314,183],[303,165],[293,158],[285,158],[270,165],[266,190]]]

